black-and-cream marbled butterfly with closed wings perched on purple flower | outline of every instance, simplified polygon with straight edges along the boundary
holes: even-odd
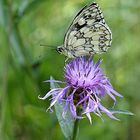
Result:
[[[112,33],[95,2],[85,6],[72,21],[64,36],[64,45],[57,52],[68,58],[106,52],[111,47]]]

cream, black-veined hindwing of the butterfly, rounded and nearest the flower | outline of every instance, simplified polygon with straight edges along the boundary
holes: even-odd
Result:
[[[69,37],[68,46],[72,46],[74,57],[106,52],[111,45],[110,30],[100,22],[83,27]]]

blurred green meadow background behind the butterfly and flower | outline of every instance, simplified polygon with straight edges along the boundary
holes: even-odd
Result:
[[[58,46],[76,13],[92,0],[0,0],[0,140],[63,140],[42,81],[64,80],[65,57],[40,44]],[[117,108],[134,116],[121,121],[93,115],[80,122],[79,140],[140,140],[140,1],[98,0],[113,33],[103,69],[124,98]],[[52,47],[55,49],[55,47]],[[98,59],[100,56],[95,56]],[[112,101],[106,98],[108,106]]]

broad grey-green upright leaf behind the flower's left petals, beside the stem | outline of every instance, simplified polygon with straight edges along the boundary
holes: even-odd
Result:
[[[54,80],[54,79],[51,77],[50,80]],[[51,82],[50,86],[51,86],[51,89],[59,87],[59,85],[54,82]],[[68,140],[70,140],[73,136],[73,128],[74,128],[75,120],[73,119],[70,110],[68,110],[68,113],[66,114],[65,118],[62,117],[63,109],[65,107],[65,102],[62,102],[62,103],[57,102],[54,106],[55,106],[56,116],[59,121],[61,130],[64,136]]]

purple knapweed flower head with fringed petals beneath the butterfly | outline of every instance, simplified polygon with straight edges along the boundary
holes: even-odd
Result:
[[[65,102],[63,117],[70,110],[75,119],[81,119],[85,114],[90,123],[92,123],[91,113],[99,117],[105,113],[110,118],[118,120],[111,111],[101,104],[106,95],[109,95],[114,103],[116,103],[115,96],[122,96],[113,89],[109,79],[100,68],[100,64],[101,60],[94,63],[93,58],[74,59],[65,66],[66,86],[52,89],[44,97],[39,98],[44,100],[51,95],[53,96],[48,109],[51,109],[56,102]]]

